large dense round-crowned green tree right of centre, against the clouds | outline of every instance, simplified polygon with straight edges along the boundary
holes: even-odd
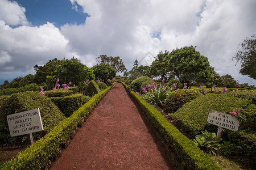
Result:
[[[201,56],[193,46],[172,50],[166,61],[172,73],[182,84],[187,83],[188,88],[195,83],[213,82],[213,69],[208,58]]]

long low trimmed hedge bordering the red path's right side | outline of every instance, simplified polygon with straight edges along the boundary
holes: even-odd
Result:
[[[122,83],[126,89],[125,83]],[[138,102],[152,125],[158,129],[168,143],[174,148],[177,155],[187,169],[220,169],[207,154],[201,151],[191,140],[172,126],[154,107],[144,101],[135,92],[129,90],[131,96]]]

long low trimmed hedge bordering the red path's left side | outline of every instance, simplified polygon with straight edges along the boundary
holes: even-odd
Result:
[[[55,128],[52,129],[42,139],[35,142],[31,147],[20,153],[14,159],[3,165],[1,169],[45,169],[51,161],[58,155],[61,148],[67,144],[77,126],[81,125],[84,117],[97,105],[106,95],[112,86],[95,95],[82,105],[77,111],[65,118]]]

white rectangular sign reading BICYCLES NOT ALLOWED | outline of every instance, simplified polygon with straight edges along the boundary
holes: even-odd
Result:
[[[7,116],[7,122],[11,137],[44,130],[39,108],[10,114]]]

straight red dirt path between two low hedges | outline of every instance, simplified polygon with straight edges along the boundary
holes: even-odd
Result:
[[[179,169],[120,83],[101,100],[51,169]]]

